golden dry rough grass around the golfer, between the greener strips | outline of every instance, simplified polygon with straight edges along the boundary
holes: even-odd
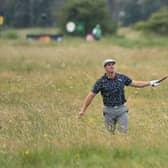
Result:
[[[85,96],[103,74],[105,58],[116,59],[117,71],[135,80],[152,80],[168,72],[167,49],[84,42],[56,47],[3,45],[0,51],[1,151],[46,145],[167,145],[167,81],[158,88],[126,88],[127,136],[111,136],[104,129],[100,96],[85,117],[77,119]]]

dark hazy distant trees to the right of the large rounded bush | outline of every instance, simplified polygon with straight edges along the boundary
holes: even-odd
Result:
[[[147,20],[152,13],[168,6],[167,0],[108,0],[112,17],[123,26]]]

